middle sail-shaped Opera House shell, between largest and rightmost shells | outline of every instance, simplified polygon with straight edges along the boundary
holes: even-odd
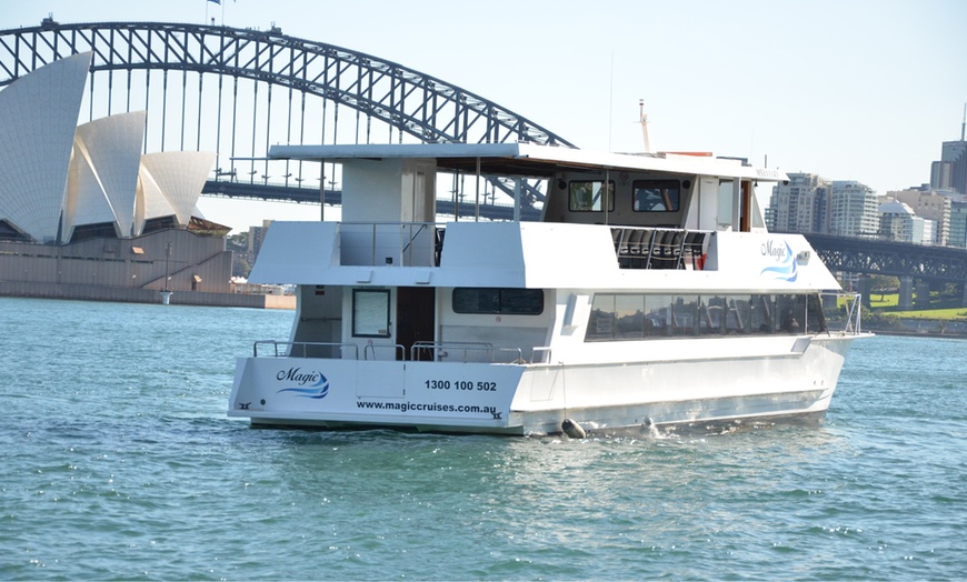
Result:
[[[119,237],[133,233],[147,116],[147,111],[121,113],[77,128],[64,240],[70,240],[76,227],[101,222],[113,222]]]

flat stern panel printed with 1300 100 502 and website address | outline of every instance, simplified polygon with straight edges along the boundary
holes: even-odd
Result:
[[[253,425],[520,433],[510,414],[525,367],[239,358],[229,417]]]

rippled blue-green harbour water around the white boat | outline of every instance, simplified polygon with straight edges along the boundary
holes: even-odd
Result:
[[[2,579],[956,579],[967,342],[857,342],[827,422],[491,438],[253,430],[291,312],[0,298]]]

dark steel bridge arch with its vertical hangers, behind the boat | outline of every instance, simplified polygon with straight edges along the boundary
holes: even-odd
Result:
[[[239,181],[237,162],[246,159],[251,161],[249,182],[255,183],[258,173],[255,160],[266,157],[272,138],[275,142],[320,143],[330,139],[327,136],[331,136],[331,142],[345,137],[345,124],[338,127],[340,107],[356,112],[356,127],[350,130],[350,139],[358,143],[375,142],[376,131],[385,128],[386,142],[529,141],[574,147],[522,116],[439,78],[371,54],[288,37],[277,28],[261,31],[165,22],[60,24],[44,19],[38,27],[0,31],[0,87],[57,59],[87,51],[93,52],[88,83],[91,119],[96,117],[96,102],[101,108],[104,99],[106,114],[148,109],[147,132],[157,140],[160,131],[159,149],[162,151],[186,149],[186,138],[190,138],[192,131],[196,132],[196,149],[203,149],[203,144],[205,149],[211,149],[213,131],[215,149],[219,152],[217,178],[230,177],[229,181]],[[153,78],[156,86],[151,87],[152,71],[162,74],[160,121],[154,111],[159,97],[157,77]],[[180,89],[177,87],[178,72],[181,73]],[[173,79],[169,79],[170,73],[176,73]],[[189,73],[197,73],[197,80]],[[114,84],[116,76],[122,77],[120,89]],[[205,78],[213,76],[218,77],[217,97],[212,97],[212,91],[203,84]],[[106,88],[96,83],[103,78],[107,78]],[[138,87],[141,78],[143,88]],[[225,87],[226,79],[231,81],[231,87]],[[250,127],[238,124],[240,118],[247,121],[248,110],[239,97],[240,91],[247,90],[241,87],[245,82],[252,88]],[[196,86],[197,103],[195,96],[189,99]],[[263,88],[261,96],[260,87]],[[287,91],[287,98],[283,98],[287,106],[280,108],[278,101],[272,103],[273,88]],[[181,98],[178,148],[168,147],[168,133],[179,133],[177,122],[172,124],[168,111],[169,100],[177,96],[169,98],[169,92],[180,92]],[[114,111],[117,93],[124,97],[124,106]],[[136,94],[138,97],[133,97]],[[140,107],[140,102],[132,104],[132,99],[137,101],[141,94],[144,107]],[[154,108],[151,107],[152,94]],[[321,101],[321,113],[318,107],[313,110],[309,104],[312,100]],[[217,101],[217,111],[208,113],[209,118],[216,118],[215,128],[202,124],[206,111],[211,109],[209,101]],[[172,108],[177,109],[177,103]],[[273,113],[277,119],[280,114],[286,116],[286,121],[273,126]],[[177,116],[175,111],[171,117]],[[320,119],[321,131],[307,140],[307,122],[318,124]],[[187,124],[189,121],[197,127]],[[229,124],[230,128],[223,128]],[[285,126],[285,134],[278,128],[280,124]],[[245,146],[250,146],[250,149],[246,150],[240,146],[239,134],[249,131],[251,142]],[[230,133],[230,138],[223,133]],[[228,160],[231,160],[230,171],[221,167],[227,165]],[[297,182],[303,180],[301,163],[308,162],[299,163],[299,177],[293,179]],[[268,185],[268,161],[265,164],[263,179]],[[288,165],[283,171],[283,185],[288,187],[292,173]],[[323,188],[322,184],[319,188]],[[539,192],[534,193],[538,200],[542,198]]]

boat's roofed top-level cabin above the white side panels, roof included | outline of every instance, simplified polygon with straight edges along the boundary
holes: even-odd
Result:
[[[269,154],[338,162],[343,220],[353,222],[435,221],[436,177],[448,172],[470,183],[460,192],[463,208],[479,204],[481,183],[497,183],[515,193],[517,219],[527,198],[542,202],[542,222],[764,231],[754,187],[788,179],[776,169],[710,154],[607,153],[530,143],[276,146]],[[535,189],[529,181],[542,185]]]

